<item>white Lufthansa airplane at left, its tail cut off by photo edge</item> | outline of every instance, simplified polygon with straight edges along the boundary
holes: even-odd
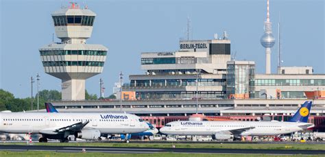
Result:
[[[108,134],[132,134],[148,130],[149,125],[134,114],[59,113],[59,112],[1,112],[0,132],[42,134],[47,138],[68,142],[68,136],[98,139]],[[129,139],[125,139],[129,142]]]

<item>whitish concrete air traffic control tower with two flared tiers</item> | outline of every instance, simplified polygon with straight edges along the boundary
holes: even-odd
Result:
[[[45,73],[62,80],[62,100],[83,100],[86,79],[103,71],[108,51],[103,45],[86,44],[96,14],[72,3],[51,16],[61,43],[39,49]]]

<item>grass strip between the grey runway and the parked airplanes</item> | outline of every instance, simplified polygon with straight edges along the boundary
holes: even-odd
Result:
[[[0,143],[0,145],[26,145],[26,143]],[[34,145],[84,146],[84,147],[171,147],[176,148],[228,148],[228,149],[304,149],[325,150],[325,144],[261,144],[261,143],[34,143]]]

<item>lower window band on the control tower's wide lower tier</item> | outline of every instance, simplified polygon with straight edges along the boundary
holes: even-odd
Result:
[[[60,66],[91,66],[104,67],[104,62],[88,62],[88,61],[49,61],[43,62],[44,67],[60,67]]]

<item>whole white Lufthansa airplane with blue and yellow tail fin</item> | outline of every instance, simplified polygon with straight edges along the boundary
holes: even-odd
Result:
[[[289,121],[173,121],[160,128],[163,134],[210,135],[217,140],[240,136],[273,136],[313,128],[307,123],[311,101],[306,101]]]

